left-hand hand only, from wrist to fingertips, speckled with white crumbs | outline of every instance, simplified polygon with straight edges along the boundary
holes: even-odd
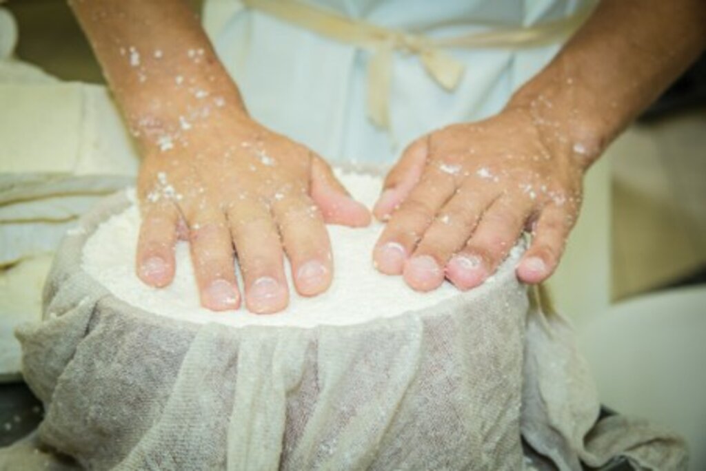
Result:
[[[368,210],[321,157],[242,114],[181,119],[171,135],[152,133],[143,136],[155,145],[145,150],[138,178],[143,223],[136,262],[150,286],[171,283],[174,244],[182,237],[191,245],[203,306],[239,307],[237,252],[246,306],[277,312],[289,299],[283,252],[297,291],[317,295],[333,274],[324,224],[369,224]]]

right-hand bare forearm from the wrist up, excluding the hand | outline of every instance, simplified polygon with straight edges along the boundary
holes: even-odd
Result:
[[[509,106],[590,166],[706,47],[703,0],[604,0]]]

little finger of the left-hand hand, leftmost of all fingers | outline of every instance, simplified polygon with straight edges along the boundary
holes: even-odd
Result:
[[[179,212],[170,202],[143,205],[137,245],[137,275],[149,286],[162,288],[174,279],[174,244]]]

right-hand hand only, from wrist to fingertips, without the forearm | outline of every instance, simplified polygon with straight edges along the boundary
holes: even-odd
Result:
[[[578,154],[522,108],[421,137],[388,173],[373,210],[389,218],[373,253],[376,267],[403,274],[415,290],[433,290],[445,278],[467,290],[496,271],[527,229],[532,244],[517,276],[543,281],[578,216]]]

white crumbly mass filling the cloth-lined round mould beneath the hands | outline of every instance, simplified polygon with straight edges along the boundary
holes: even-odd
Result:
[[[373,206],[380,195],[380,178],[358,174],[339,176],[357,200],[367,207]],[[318,213],[318,209],[313,209],[313,212]],[[184,241],[179,241],[175,247],[177,271],[169,286],[150,288],[137,278],[134,257],[139,228],[140,212],[136,205],[112,216],[86,243],[83,268],[118,298],[131,305],[186,322],[304,328],[321,324],[349,325],[379,317],[395,317],[402,312],[431,307],[459,295],[459,291],[448,282],[429,293],[418,293],[409,288],[401,276],[385,276],[376,271],[371,254],[384,225],[373,222],[366,228],[327,226],[335,274],[331,287],[322,295],[313,298],[300,296],[290,281],[290,302],[284,312],[258,315],[247,312],[244,307],[238,311],[213,312],[200,305],[189,244]],[[111,247],[111,250],[105,250],[105,247]],[[521,253],[511,251],[508,259],[510,267],[515,266]],[[239,270],[236,272],[240,276]],[[288,264],[285,273],[291,273]],[[492,280],[488,283],[492,283]],[[241,278],[239,286],[244,286]],[[478,293],[484,289],[488,288],[474,288]],[[400,300],[405,302],[400,303]]]

